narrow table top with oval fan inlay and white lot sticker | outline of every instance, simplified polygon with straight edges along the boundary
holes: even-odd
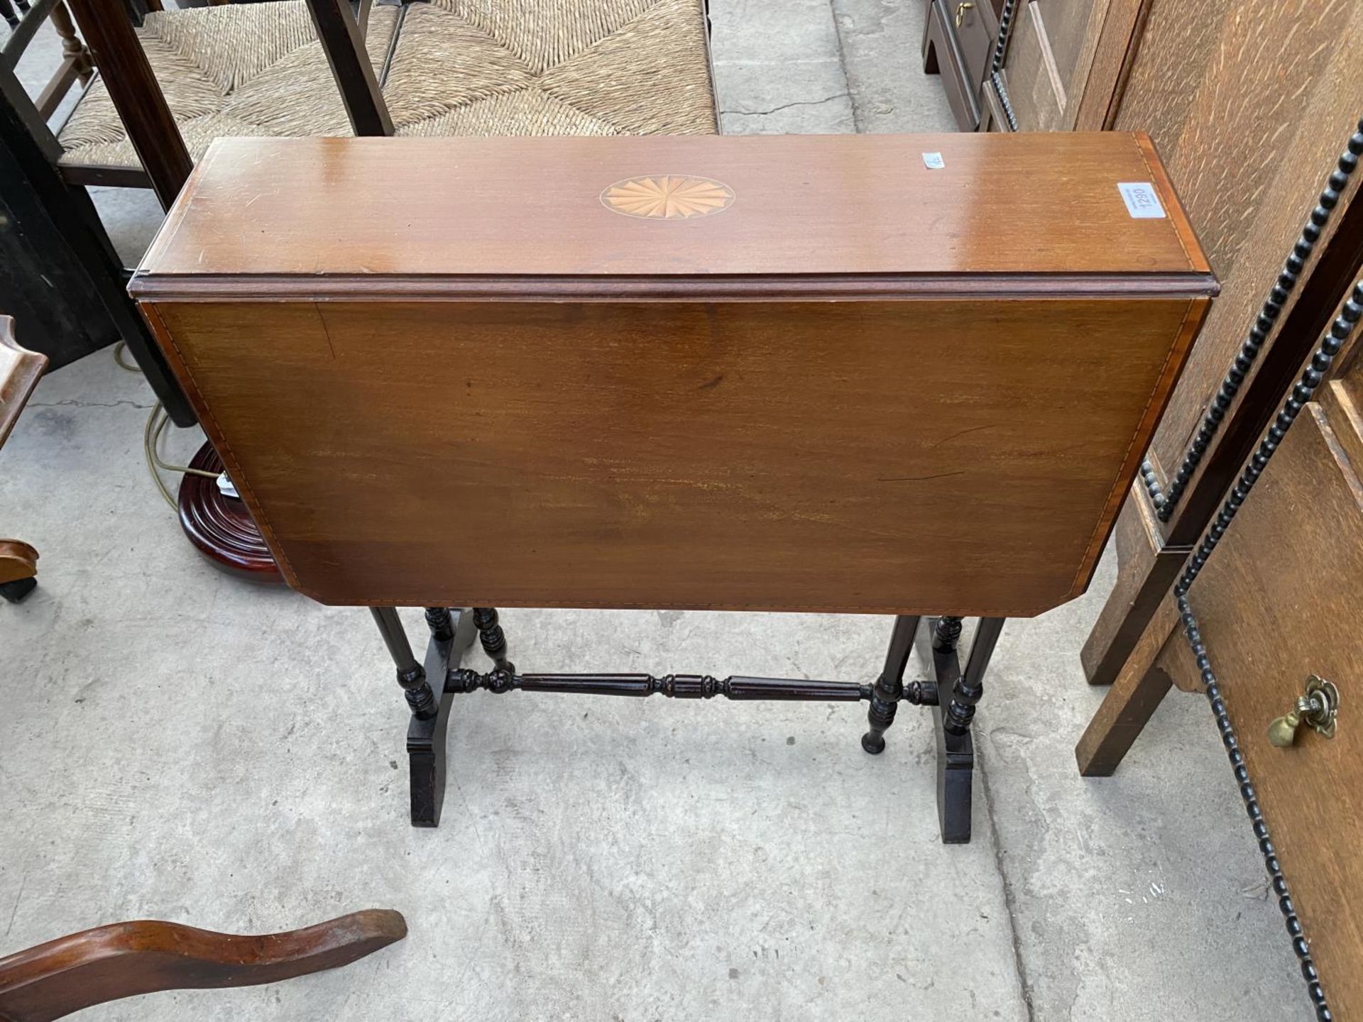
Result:
[[[1149,139],[1124,132],[219,139],[132,290],[316,297],[319,275],[345,293],[752,275],[1214,290]]]

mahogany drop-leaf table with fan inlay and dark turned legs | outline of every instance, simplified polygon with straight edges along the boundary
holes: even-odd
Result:
[[[934,707],[968,841],[1003,620],[1088,586],[1216,282],[1104,132],[225,139],[131,290],[288,582],[373,609],[413,823],[457,694],[722,695],[867,700],[872,754]],[[507,605],[894,625],[870,683],[547,675]]]

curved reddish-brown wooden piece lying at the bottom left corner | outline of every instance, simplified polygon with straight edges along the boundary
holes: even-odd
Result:
[[[349,965],[406,933],[402,914],[390,909],[263,936],[114,923],[0,958],[0,1022],[48,1022],[154,991],[277,982]]]

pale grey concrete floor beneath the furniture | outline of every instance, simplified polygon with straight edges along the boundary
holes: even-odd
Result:
[[[726,131],[950,129],[919,72],[920,3],[713,7]],[[154,204],[99,202],[136,258]],[[102,352],[46,377],[0,451],[0,533],[42,552],[38,591],[0,605],[0,954],[119,918],[259,932],[367,906],[410,936],[339,972],[85,1018],[1307,1017],[1204,702],[1168,699],[1115,778],[1075,773],[1103,695],[1078,649],[1111,557],[1088,595],[1005,631],[969,846],[938,841],[930,718],[909,707],[872,759],[860,707],[487,694],[459,704],[446,819],[418,831],[368,615],[200,561],[146,476],[151,401]],[[172,456],[196,443],[174,435]],[[870,680],[889,634],[503,620],[518,664],[567,670]]]

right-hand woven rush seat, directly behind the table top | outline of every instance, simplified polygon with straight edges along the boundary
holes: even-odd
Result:
[[[711,135],[703,0],[412,4],[386,69],[398,135]]]

